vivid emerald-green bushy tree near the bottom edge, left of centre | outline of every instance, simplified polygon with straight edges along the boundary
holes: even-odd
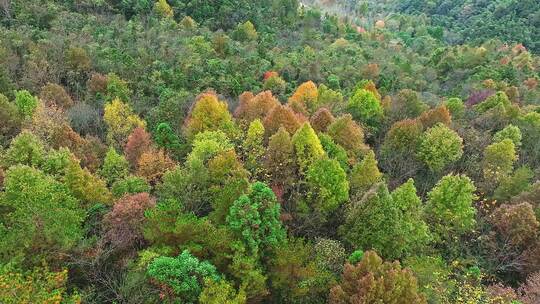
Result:
[[[148,275],[170,288],[165,294],[172,300],[177,299],[184,303],[195,303],[199,298],[205,279],[219,281],[221,278],[214,265],[207,261],[199,261],[184,250],[176,258],[157,257],[147,269]]]

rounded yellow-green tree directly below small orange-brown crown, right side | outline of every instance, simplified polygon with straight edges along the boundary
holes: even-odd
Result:
[[[440,172],[463,155],[463,139],[443,124],[424,132],[418,147],[418,157],[431,171]]]

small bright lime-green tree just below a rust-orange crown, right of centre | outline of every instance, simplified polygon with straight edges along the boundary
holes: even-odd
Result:
[[[358,89],[347,103],[347,111],[352,117],[367,127],[377,130],[384,115],[381,102],[365,89]]]

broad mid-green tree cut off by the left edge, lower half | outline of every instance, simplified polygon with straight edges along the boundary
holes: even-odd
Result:
[[[0,257],[30,261],[58,258],[82,237],[84,212],[61,183],[38,169],[16,165],[6,172],[0,207]],[[47,255],[47,252],[50,256]]]

